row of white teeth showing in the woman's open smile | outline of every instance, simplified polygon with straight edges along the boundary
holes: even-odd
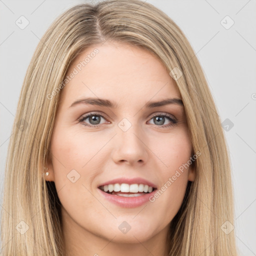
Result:
[[[101,190],[104,192],[130,192],[130,193],[137,193],[137,192],[149,192],[151,193],[153,191],[152,186],[144,185],[144,184],[126,184],[126,183],[115,183],[115,184],[109,184],[104,185],[100,187]],[[126,196],[127,194],[123,195]],[[134,196],[138,196],[138,194],[133,194]],[[128,196],[128,195],[127,195]]]

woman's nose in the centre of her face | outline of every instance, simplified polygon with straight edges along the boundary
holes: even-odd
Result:
[[[137,125],[123,131],[117,127],[117,134],[113,138],[112,159],[115,163],[144,164],[148,159],[148,147],[141,129]]]

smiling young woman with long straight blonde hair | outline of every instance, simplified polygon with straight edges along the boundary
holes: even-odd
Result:
[[[219,116],[189,42],[151,4],[60,15],[14,123],[3,255],[237,255]]]

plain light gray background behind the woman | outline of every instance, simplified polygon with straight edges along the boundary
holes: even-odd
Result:
[[[82,2],[85,1],[0,0],[1,190],[18,96],[35,47],[55,17]],[[221,121],[228,118],[229,130],[224,132],[232,163],[234,231],[240,255],[256,255],[256,2],[147,2],[162,9],[185,33],[202,65]],[[15,24],[21,15],[29,21],[24,29]],[[221,21],[226,15],[234,21],[228,29],[222,24],[228,26],[230,20]]]

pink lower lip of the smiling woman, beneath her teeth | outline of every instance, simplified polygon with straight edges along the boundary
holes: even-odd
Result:
[[[146,193],[139,196],[125,197],[115,194],[108,194],[99,188],[98,190],[104,196],[105,199],[124,208],[134,208],[141,206],[142,204],[148,202],[149,197],[153,196],[154,193],[157,191],[157,189],[154,189],[151,193]]]

